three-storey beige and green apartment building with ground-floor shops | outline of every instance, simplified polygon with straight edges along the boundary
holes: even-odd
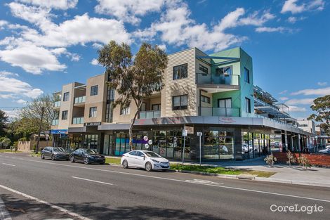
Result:
[[[55,103],[58,119],[51,128],[53,145],[95,148],[105,155],[131,150],[128,127],[136,105],[112,109],[117,94],[105,74],[86,84],[62,86]],[[133,144],[168,158],[197,160],[202,132],[202,160],[244,160],[270,150],[301,150],[310,132],[269,93],[253,86],[252,58],[242,48],[208,55],[190,48],[169,55],[164,88],[145,100],[133,127]],[[187,130],[183,152],[183,129]]]

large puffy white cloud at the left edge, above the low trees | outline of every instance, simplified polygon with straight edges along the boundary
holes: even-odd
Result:
[[[47,48],[20,40],[11,41],[6,48],[0,50],[0,60],[37,75],[44,70],[64,70],[66,66],[60,64],[57,55]]]

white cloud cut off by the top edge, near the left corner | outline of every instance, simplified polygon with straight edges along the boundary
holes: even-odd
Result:
[[[18,0],[22,3],[42,6],[45,8],[55,8],[65,10],[77,6],[78,0]]]

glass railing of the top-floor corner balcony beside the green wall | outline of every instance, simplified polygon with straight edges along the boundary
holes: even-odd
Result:
[[[197,73],[197,84],[217,84],[239,86],[239,75],[220,75],[215,73]]]

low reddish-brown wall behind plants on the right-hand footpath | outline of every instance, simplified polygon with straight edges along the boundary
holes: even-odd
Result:
[[[286,163],[288,160],[286,157],[286,153],[284,152],[274,152],[273,155],[276,157],[277,162]],[[293,153],[293,155],[298,158],[299,153]],[[322,154],[308,154],[302,153],[301,155],[305,155],[310,161],[312,165],[320,165],[330,167],[330,155],[322,155]]]

